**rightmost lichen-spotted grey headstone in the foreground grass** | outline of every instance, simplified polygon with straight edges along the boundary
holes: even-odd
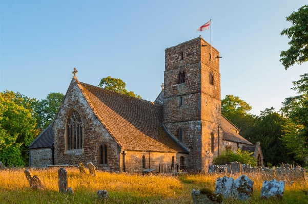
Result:
[[[261,189],[261,198],[282,198],[284,191],[284,182],[280,180],[279,182],[276,179],[273,180],[264,180]]]

